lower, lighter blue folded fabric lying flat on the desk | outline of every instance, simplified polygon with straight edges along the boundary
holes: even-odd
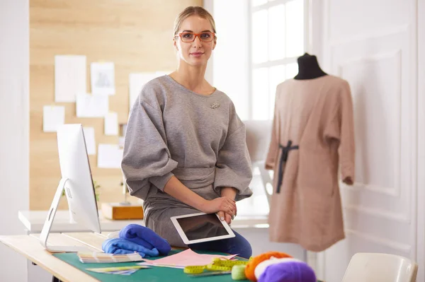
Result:
[[[133,254],[138,252],[142,257],[158,257],[158,249],[148,249],[134,242],[120,238],[110,238],[102,243],[103,252],[108,254]]]

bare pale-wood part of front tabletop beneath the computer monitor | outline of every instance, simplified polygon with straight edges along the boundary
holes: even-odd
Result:
[[[55,233],[49,236],[51,245],[75,245],[85,246],[93,251],[102,249],[102,242],[106,239],[106,235],[96,235],[94,233]],[[97,279],[79,271],[62,260],[53,257],[50,252],[47,252],[40,241],[38,234],[30,235],[13,235],[0,236],[0,242],[11,247],[16,252],[22,254],[31,262],[37,264],[48,271],[52,276],[59,278],[63,282],[67,281],[84,281],[98,282]]]

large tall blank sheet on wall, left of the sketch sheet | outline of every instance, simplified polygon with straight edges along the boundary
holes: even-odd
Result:
[[[55,102],[75,102],[86,91],[86,56],[55,56]]]

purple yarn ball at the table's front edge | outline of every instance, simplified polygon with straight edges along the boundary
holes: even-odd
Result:
[[[313,269],[305,262],[281,262],[267,266],[258,282],[317,282]]]

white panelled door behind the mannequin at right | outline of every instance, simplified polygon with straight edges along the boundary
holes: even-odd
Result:
[[[417,0],[322,1],[320,61],[350,83],[356,124],[356,183],[341,185],[346,240],[318,257],[319,276],[340,282],[356,252],[418,259]]]

